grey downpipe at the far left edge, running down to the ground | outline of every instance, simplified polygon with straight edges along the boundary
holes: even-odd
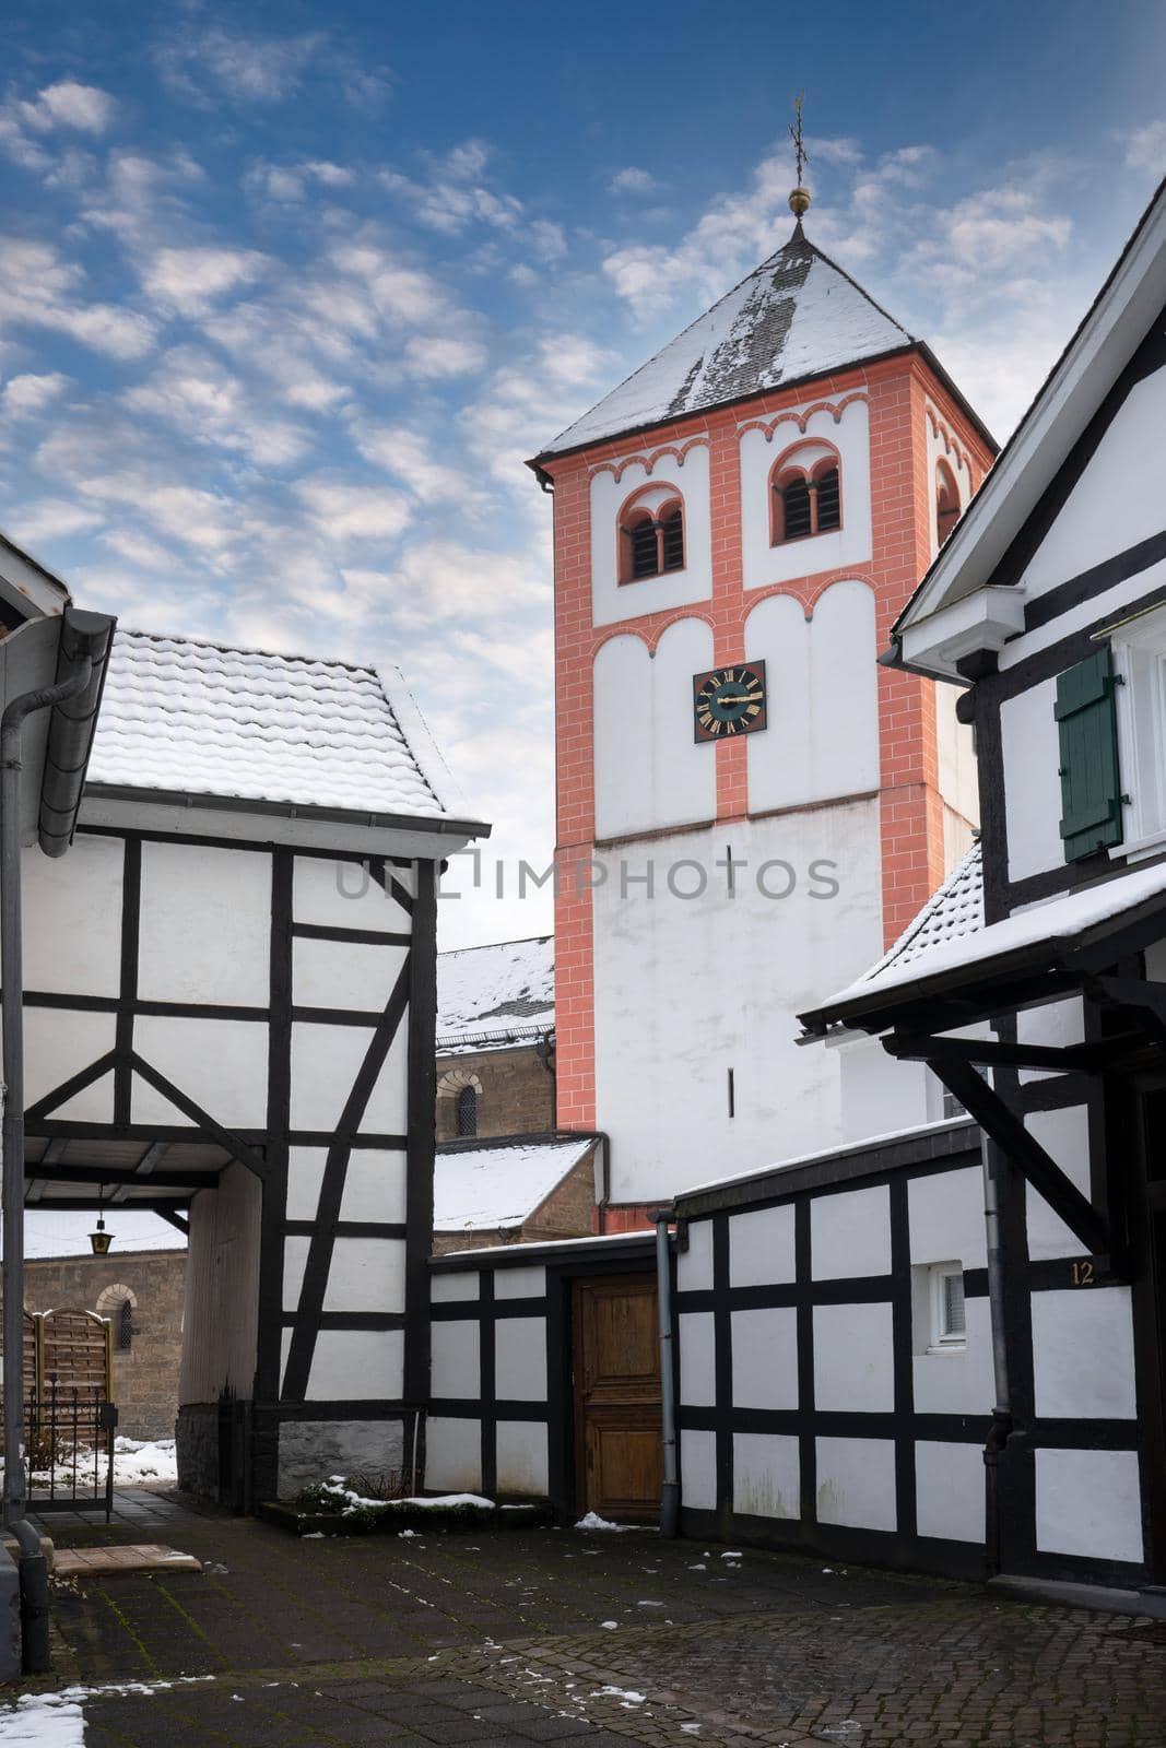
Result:
[[[3,1024],[3,1524],[21,1550],[23,1661],[49,1668],[49,1578],[40,1536],[24,1521],[24,963],[21,942],[21,766],[24,722],[86,689],[93,659],[77,656],[63,680],[14,697],[0,717],[0,1023]]]

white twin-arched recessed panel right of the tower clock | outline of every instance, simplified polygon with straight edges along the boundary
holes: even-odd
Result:
[[[790,594],[759,601],[745,659],[764,661],[767,727],[748,736],[752,813],[879,787],[878,638],[865,582],[834,582],[813,619]]]

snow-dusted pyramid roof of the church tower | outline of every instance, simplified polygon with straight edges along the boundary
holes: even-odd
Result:
[[[568,425],[542,456],[720,407],[911,344],[913,336],[815,248],[797,224],[788,243],[591,413]]]

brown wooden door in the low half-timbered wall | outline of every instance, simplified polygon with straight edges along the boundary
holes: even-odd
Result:
[[[654,1521],[663,1481],[654,1276],[575,1281],[573,1383],[579,1510]]]

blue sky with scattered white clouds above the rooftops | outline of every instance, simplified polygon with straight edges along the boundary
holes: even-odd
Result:
[[[1166,171],[1163,5],[42,0],[0,23],[0,524],[124,624],[409,675],[535,933],[523,460],[788,234],[998,435]],[[462,881],[465,886],[465,881]]]

